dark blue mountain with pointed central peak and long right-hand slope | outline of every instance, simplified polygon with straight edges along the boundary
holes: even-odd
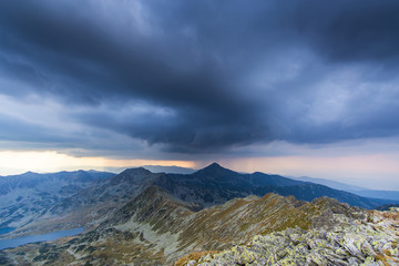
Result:
[[[155,181],[155,184],[178,198],[196,202],[203,206],[222,204],[234,197],[263,196],[270,192],[283,196],[293,195],[303,201],[329,196],[365,208],[374,208],[380,205],[372,200],[324,185],[259,172],[242,174],[224,168],[217,163],[191,175],[170,174],[162,176]]]

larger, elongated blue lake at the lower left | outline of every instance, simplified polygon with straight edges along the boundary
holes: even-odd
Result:
[[[82,233],[84,227],[79,227],[69,231],[59,231],[45,235],[32,235],[32,236],[22,236],[12,239],[0,239],[0,250],[9,247],[18,247],[24,244],[34,243],[34,242],[49,242],[55,241],[60,237],[73,236]],[[4,234],[4,233],[3,233]]]

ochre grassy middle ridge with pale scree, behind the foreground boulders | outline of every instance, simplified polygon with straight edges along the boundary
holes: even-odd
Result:
[[[198,211],[163,188],[151,186],[95,229],[50,244],[6,249],[6,265],[172,265],[192,252],[245,244],[257,234],[298,227],[331,227],[337,215],[365,218],[357,207],[323,197],[311,203],[268,194],[235,198]]]

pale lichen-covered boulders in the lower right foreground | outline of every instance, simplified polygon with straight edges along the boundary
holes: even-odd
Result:
[[[287,228],[256,235],[246,245],[187,256],[176,265],[399,265],[399,213],[368,212],[365,219],[336,214],[330,228]]]

